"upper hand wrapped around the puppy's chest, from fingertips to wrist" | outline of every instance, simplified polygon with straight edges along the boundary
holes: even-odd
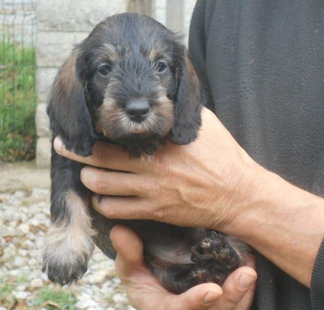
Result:
[[[68,152],[58,138],[54,148],[62,156],[92,166],[82,169],[81,180],[92,192],[108,195],[99,203],[97,198],[92,200],[94,208],[108,218],[225,230],[243,203],[250,201],[247,193],[255,189],[250,183],[256,163],[207,109],[196,141],[166,143],[145,160],[130,158],[121,147],[108,143],[97,142],[88,157]]]

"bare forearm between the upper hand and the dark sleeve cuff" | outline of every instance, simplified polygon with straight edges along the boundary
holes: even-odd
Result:
[[[247,242],[293,278],[310,287],[324,237],[324,199],[259,167],[247,203],[225,232]],[[237,208],[238,209],[238,208]]]

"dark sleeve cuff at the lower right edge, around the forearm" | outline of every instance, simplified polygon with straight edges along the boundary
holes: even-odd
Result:
[[[312,283],[310,296],[313,310],[323,310],[324,308],[324,239],[315,260],[312,273]]]

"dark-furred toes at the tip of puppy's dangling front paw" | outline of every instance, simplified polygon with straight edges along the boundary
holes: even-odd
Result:
[[[46,249],[43,256],[42,271],[48,278],[60,285],[71,285],[82,278],[88,269],[88,256],[65,249],[63,255],[55,249]]]

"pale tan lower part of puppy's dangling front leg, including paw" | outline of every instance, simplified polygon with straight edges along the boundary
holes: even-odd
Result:
[[[57,205],[65,214],[61,220],[52,220],[45,239],[42,271],[52,282],[70,285],[87,271],[96,232],[91,227],[88,201],[69,190]]]

